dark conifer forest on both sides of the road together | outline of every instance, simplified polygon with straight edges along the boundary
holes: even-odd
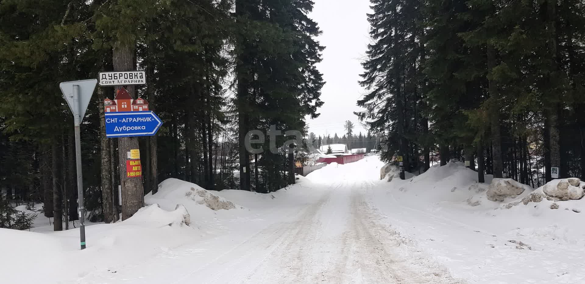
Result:
[[[54,230],[77,220],[73,117],[59,83],[100,71],[145,71],[146,85],[128,91],[164,124],[156,136],[106,138],[104,99],[117,90],[96,88],[81,126],[92,221],[127,219],[167,178],[261,193],[294,183],[294,153],[257,135],[263,153],[246,150],[250,130],[271,126],[319,147],[380,148],[411,172],[438,159],[469,161],[480,182],[538,187],[553,168],[585,179],[583,3],[370,2],[355,113],[368,132],[348,121],[341,137],[316,137],[307,120],[323,105],[325,47],[311,0],[0,0],[0,210],[16,199],[44,203]],[[136,148],[143,177],[126,178]]]

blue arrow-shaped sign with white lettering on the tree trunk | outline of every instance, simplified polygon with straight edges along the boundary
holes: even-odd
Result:
[[[153,136],[163,122],[153,112],[106,112],[106,137]]]

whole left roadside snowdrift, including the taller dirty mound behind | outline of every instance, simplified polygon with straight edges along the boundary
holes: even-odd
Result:
[[[84,279],[116,273],[125,265],[167,255],[174,248],[201,239],[216,224],[215,210],[226,212],[223,209],[236,207],[194,183],[178,179],[167,179],[156,195],[149,193],[144,199],[146,207],[128,220],[87,226],[87,249],[83,251],[79,250],[78,228],[61,232],[47,229],[46,234],[0,229],[0,240],[10,244],[2,248],[2,254],[10,256],[4,260],[18,264],[0,261],[0,267],[9,268],[1,270],[0,282],[18,283],[24,277],[32,283],[92,283]],[[76,261],[80,258],[83,261]],[[35,273],[29,273],[30,268]],[[64,273],[64,268],[75,273]]]

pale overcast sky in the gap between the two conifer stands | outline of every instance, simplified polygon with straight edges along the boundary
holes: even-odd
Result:
[[[314,0],[311,15],[319,24],[323,34],[318,38],[322,46],[323,61],[318,65],[323,73],[325,86],[321,101],[325,104],[318,110],[317,119],[308,119],[309,132],[316,136],[337,133],[343,136],[343,123],[351,120],[355,124],[354,133],[366,130],[357,121],[353,112],[360,110],[356,101],[365,93],[358,84],[363,72],[363,60],[367,44],[370,42],[367,13],[370,12],[369,0]]]

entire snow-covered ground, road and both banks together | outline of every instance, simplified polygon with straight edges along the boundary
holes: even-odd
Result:
[[[581,200],[493,202],[461,164],[392,182],[383,165],[330,164],[270,194],[167,179],[131,219],[88,226],[84,251],[78,230],[0,229],[2,283],[583,283],[582,217],[564,209]]]

